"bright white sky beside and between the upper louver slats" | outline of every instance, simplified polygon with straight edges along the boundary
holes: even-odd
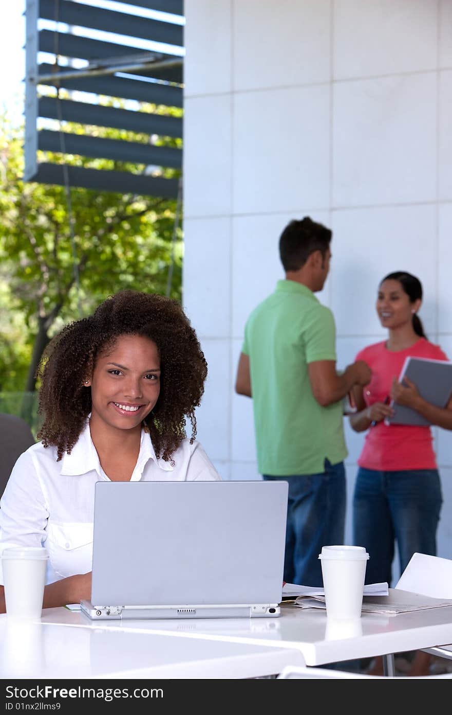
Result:
[[[146,10],[144,8],[134,7],[122,4],[118,1],[110,0],[75,0],[86,5],[96,5],[106,9],[118,10],[129,14],[136,14],[145,17],[152,17],[159,20],[174,21],[178,24],[184,22],[183,19],[173,15],[168,15],[161,12]],[[22,80],[25,77],[25,18],[23,16],[26,0],[1,0],[1,30],[0,30],[0,66],[4,67],[1,74],[0,82],[0,109],[8,109],[11,118],[15,123],[21,122],[21,117],[24,112],[24,83]],[[51,23],[41,21],[41,26],[53,29]],[[123,38],[121,35],[108,33],[99,33],[84,29],[80,34],[86,36],[98,37],[99,39],[108,39],[113,42],[124,44],[133,44],[136,47],[156,51],[169,51],[166,45],[156,44],[144,40],[132,41],[131,38]],[[171,48],[174,54],[183,54],[183,49]],[[48,57],[48,56],[44,56]],[[46,61],[49,61],[47,59]]]

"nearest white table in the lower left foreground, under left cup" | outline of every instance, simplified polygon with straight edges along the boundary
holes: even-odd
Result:
[[[111,628],[66,608],[44,614],[31,622],[0,616],[0,679],[256,678],[294,662],[282,647]],[[301,654],[296,664],[303,664]]]

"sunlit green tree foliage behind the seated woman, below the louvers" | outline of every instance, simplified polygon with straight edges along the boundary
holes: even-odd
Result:
[[[62,129],[81,131],[67,123]],[[91,130],[149,141],[131,132]],[[126,287],[165,294],[173,255],[170,295],[180,299],[181,294],[181,230],[172,243],[176,201],[71,188],[73,243],[65,189],[22,181],[23,142],[23,130],[0,117],[0,392],[34,390],[36,366],[51,337],[108,295]],[[161,138],[156,143],[162,142],[180,144]],[[145,168],[61,154],[41,159],[121,171]],[[174,169],[162,173],[178,175]]]

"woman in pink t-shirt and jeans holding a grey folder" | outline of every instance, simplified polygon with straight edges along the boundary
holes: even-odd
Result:
[[[452,399],[446,408],[437,408],[421,398],[411,381],[402,385],[397,380],[408,355],[448,359],[423,332],[417,315],[421,301],[422,286],[415,276],[398,271],[383,278],[376,310],[388,339],[356,355],[372,370],[371,382],[354,388],[358,411],[350,418],[353,430],[367,431],[353,495],[353,543],[365,546],[370,556],[366,583],[391,584],[395,541],[401,573],[415,551],[436,555],[443,499],[431,429],[384,422],[392,413],[392,398],[432,425],[452,430]]]

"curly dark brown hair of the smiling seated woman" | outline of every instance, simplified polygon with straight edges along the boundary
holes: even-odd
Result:
[[[70,453],[91,412],[91,388],[83,385],[96,358],[121,335],[153,340],[161,360],[161,386],[154,410],[147,415],[156,455],[166,461],[186,438],[196,436],[194,410],[204,393],[207,363],[194,328],[176,300],[163,295],[121,290],[107,298],[91,317],[59,332],[44,351],[36,376],[41,378],[39,413],[44,423],[38,438],[56,445],[58,460]]]

